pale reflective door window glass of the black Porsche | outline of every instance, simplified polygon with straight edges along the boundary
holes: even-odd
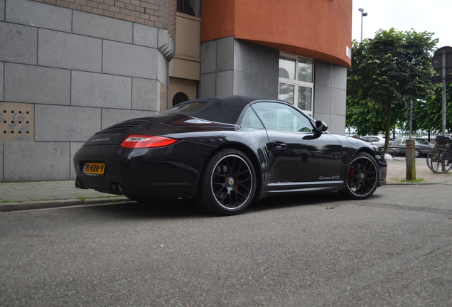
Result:
[[[252,108],[269,130],[313,132],[311,120],[286,104],[257,102]]]

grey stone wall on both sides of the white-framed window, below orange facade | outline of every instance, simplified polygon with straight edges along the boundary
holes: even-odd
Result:
[[[279,50],[230,36],[201,44],[200,97],[278,97]],[[347,68],[315,60],[313,118],[345,133]]]

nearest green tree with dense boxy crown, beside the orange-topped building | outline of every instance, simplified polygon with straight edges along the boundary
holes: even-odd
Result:
[[[367,114],[367,119],[377,126],[384,121],[385,151],[391,128],[401,115],[397,112],[392,119],[392,109],[396,106],[402,109],[410,99],[426,100],[432,93],[431,55],[438,43],[437,39],[431,38],[433,34],[392,28],[377,31],[375,38],[353,42],[352,67],[348,70],[348,102],[367,105],[367,109],[376,112],[372,116]],[[361,107],[357,111],[365,116],[365,109]],[[359,126],[360,122],[352,124],[358,131],[367,131]]]

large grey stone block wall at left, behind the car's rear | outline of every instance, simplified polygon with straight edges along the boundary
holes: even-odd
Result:
[[[163,28],[0,0],[0,105],[33,104],[35,123],[34,141],[0,143],[0,181],[75,179],[87,138],[160,111],[173,45]]]

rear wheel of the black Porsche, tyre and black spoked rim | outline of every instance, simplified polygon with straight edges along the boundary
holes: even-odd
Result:
[[[217,215],[236,215],[252,203],[255,193],[256,173],[247,155],[223,149],[205,163],[195,203]]]

